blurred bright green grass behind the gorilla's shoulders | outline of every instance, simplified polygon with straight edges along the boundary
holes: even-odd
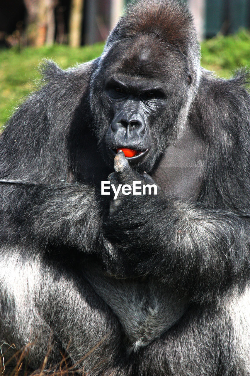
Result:
[[[66,45],[0,50],[0,127],[24,98],[36,88],[38,66],[44,58],[53,59],[62,68],[89,61],[102,52],[104,44],[71,48]],[[241,66],[250,68],[250,33],[240,30],[235,35],[202,42],[202,66],[220,77],[230,77]]]

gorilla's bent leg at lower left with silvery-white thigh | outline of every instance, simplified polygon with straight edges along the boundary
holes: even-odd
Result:
[[[118,320],[82,271],[44,253],[27,241],[1,247],[1,339],[24,348],[36,368],[59,366],[65,353],[93,375],[114,372],[125,352]]]

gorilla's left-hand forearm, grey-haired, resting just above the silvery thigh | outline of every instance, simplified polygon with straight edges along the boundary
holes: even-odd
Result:
[[[32,193],[31,193],[32,192]],[[91,186],[78,183],[5,187],[9,225],[20,239],[31,237],[39,244],[66,245],[93,252],[101,241],[101,213]],[[8,225],[8,224],[7,224]],[[10,239],[13,241],[13,239]]]

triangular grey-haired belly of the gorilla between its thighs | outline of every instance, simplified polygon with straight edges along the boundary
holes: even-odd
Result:
[[[188,307],[187,299],[152,279],[116,279],[101,268],[86,266],[89,283],[122,324],[133,348],[146,345],[166,332]]]

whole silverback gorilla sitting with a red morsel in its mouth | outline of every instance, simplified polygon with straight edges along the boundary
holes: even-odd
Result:
[[[91,376],[249,376],[247,73],[199,61],[186,5],[139,0],[9,120],[0,339],[32,367],[66,352]],[[101,194],[135,181],[157,194]]]

